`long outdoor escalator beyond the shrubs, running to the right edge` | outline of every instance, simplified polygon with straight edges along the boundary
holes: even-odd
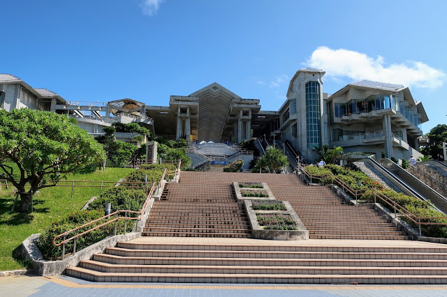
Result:
[[[413,176],[413,174],[410,174],[390,159],[373,160],[371,158],[365,158],[360,160],[360,162],[364,162],[374,168],[405,195],[413,196],[424,201],[430,200],[439,211],[447,213],[446,197],[440,195],[428,185],[425,185],[416,176]]]

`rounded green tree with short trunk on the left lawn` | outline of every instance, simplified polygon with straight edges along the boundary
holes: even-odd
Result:
[[[0,168],[20,194],[20,211],[27,211],[36,191],[104,158],[101,144],[74,119],[34,109],[0,109]]]

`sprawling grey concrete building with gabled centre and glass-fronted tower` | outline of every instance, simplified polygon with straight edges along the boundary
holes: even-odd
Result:
[[[68,102],[13,75],[0,75],[0,107],[67,114],[92,135],[119,122],[142,123],[156,136],[190,142],[241,142],[251,137],[288,140],[310,161],[317,156],[314,148],[323,144],[378,158],[382,151],[388,158],[420,156],[420,124],[428,119],[422,103],[413,99],[407,87],[363,80],[328,95],[323,93],[324,75],[313,68],[298,70],[277,111],[263,111],[260,100],[241,98],[216,82],[188,96],[170,96],[169,106],[152,106],[130,98]]]

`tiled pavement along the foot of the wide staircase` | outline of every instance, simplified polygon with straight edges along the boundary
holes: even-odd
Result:
[[[95,283],[72,277],[0,277],[0,296],[446,296],[441,285]]]

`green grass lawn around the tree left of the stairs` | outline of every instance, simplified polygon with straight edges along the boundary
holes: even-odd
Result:
[[[68,181],[118,181],[132,172],[128,168],[106,168],[89,174],[75,174],[68,176]],[[67,183],[64,183],[66,185]],[[4,184],[3,184],[4,185]],[[82,183],[87,185],[87,183]],[[98,185],[98,184],[96,184]],[[103,190],[112,183],[104,185]],[[3,186],[0,190],[0,271],[21,269],[27,266],[17,257],[20,244],[25,238],[34,233],[41,233],[68,213],[80,210],[92,197],[99,196],[101,188],[75,188],[71,199],[71,187],[44,188],[34,195],[34,213],[11,213],[15,199],[15,188]],[[16,210],[20,204],[17,199]]]

